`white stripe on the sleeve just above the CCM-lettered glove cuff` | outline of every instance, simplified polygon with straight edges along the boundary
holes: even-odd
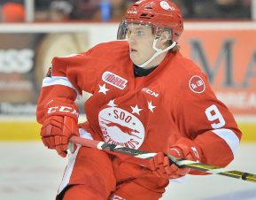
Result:
[[[76,98],[77,100],[81,100],[81,95],[79,94],[78,90],[74,88],[74,86],[71,84],[70,81],[66,77],[62,76],[52,76],[52,77],[45,77],[43,79],[43,86],[42,87],[47,87],[47,86],[52,86],[52,85],[63,85],[69,88],[73,88],[75,93],[76,93]]]

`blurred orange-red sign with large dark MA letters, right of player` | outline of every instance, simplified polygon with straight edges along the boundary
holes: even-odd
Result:
[[[213,90],[235,115],[256,115],[256,30],[186,30],[184,57],[206,73]]]

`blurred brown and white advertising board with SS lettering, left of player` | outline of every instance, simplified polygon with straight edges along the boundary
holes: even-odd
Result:
[[[35,116],[50,60],[110,41],[117,27],[82,23],[0,25],[0,117]]]

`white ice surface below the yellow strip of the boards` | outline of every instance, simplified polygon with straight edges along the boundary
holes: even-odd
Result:
[[[220,155],[221,156],[221,155]],[[42,142],[0,142],[0,200],[53,200],[66,159]],[[256,173],[256,144],[242,144],[229,168]],[[172,182],[161,200],[256,200],[256,183],[220,175]]]

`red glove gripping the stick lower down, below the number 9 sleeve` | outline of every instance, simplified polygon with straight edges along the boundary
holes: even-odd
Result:
[[[193,161],[200,161],[202,152],[200,147],[193,141],[187,138],[182,138],[175,145],[171,146],[167,150],[167,154],[178,158],[187,159]],[[171,164],[167,155],[163,152],[159,152],[150,160],[151,170],[157,176],[166,179],[177,179],[190,172],[188,168],[179,168],[175,164]]]

